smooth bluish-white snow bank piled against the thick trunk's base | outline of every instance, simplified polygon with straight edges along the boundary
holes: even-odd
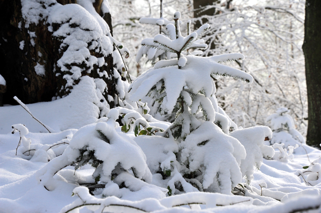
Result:
[[[43,103],[21,104],[30,108],[31,113],[56,132],[69,128],[80,128],[86,124],[95,122],[100,110],[97,105],[100,102],[93,78],[83,76],[80,82],[74,86],[72,92],[63,98]],[[49,113],[50,112],[50,113]],[[81,115],[81,116],[80,116]],[[48,119],[48,116],[55,119]],[[48,132],[39,122],[31,117],[20,105],[4,106],[1,108],[0,133],[11,132],[11,125],[24,123],[32,132]],[[45,122],[46,120],[46,122]]]

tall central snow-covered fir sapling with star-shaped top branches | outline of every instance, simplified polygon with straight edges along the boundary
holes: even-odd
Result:
[[[214,79],[230,76],[252,82],[253,77],[219,63],[244,59],[240,53],[183,55],[184,50],[200,46],[196,41],[210,26],[204,24],[183,36],[180,17],[181,13],[176,12],[174,24],[166,26],[169,37],[158,34],[142,41],[142,45],[173,52],[176,58],[160,60],[136,78],[129,86],[130,99],[136,101],[148,95],[159,102],[162,113],[177,111],[175,121],[163,133],[178,144],[175,157],[167,163],[168,170],[160,168],[168,181],[169,194],[197,190],[231,193],[231,187],[242,181],[239,166],[246,152],[237,139],[228,135],[234,124],[218,106]]]

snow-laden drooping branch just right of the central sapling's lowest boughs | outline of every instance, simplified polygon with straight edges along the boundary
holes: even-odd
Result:
[[[245,147],[246,158],[241,160],[241,172],[250,183],[254,178],[254,168],[260,168],[263,156],[271,158],[274,155],[274,149],[264,145],[264,140],[272,137],[272,131],[267,126],[254,126],[235,130],[230,136],[238,139]]]

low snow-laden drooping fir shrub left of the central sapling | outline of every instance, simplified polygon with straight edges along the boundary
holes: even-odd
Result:
[[[151,182],[151,173],[141,148],[125,133],[115,130],[119,126],[115,122],[118,110],[111,109],[108,117],[107,122],[80,128],[62,155],[55,157],[38,171],[39,180],[48,190],[53,190],[57,184],[58,180],[54,175],[68,165],[73,165],[74,172],[77,172],[77,169],[90,164],[95,168],[92,183],[99,182],[112,188],[125,186],[133,187],[130,189],[134,190],[137,183],[133,182],[139,182],[140,179]],[[108,190],[102,193],[109,194]]]

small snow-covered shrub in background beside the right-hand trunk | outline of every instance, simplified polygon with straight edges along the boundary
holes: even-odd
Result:
[[[285,146],[305,144],[304,137],[295,129],[293,118],[287,112],[289,112],[288,108],[281,107],[276,110],[276,113],[266,118],[273,131],[273,138],[269,141],[270,144],[284,143]]]

